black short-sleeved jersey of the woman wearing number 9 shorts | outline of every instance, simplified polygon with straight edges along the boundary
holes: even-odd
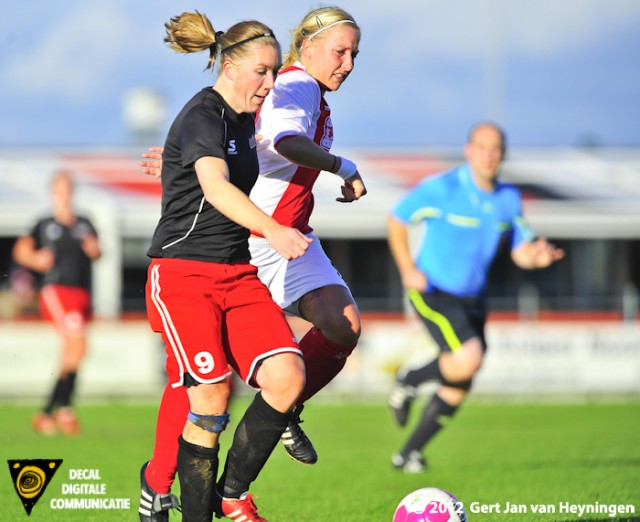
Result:
[[[249,230],[204,197],[195,171],[199,158],[222,158],[230,181],[249,195],[258,177],[251,114],[238,114],[211,87],[180,111],[162,153],[162,214],[147,255],[237,263],[249,261]]]

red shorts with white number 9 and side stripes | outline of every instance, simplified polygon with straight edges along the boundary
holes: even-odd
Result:
[[[197,382],[223,381],[231,366],[255,386],[260,362],[298,349],[284,312],[249,263],[153,259],[146,285],[151,328],[162,334],[173,387],[188,373]]]

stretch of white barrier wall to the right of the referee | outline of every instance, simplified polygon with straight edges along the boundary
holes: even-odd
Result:
[[[477,390],[640,393],[637,323],[495,323]]]

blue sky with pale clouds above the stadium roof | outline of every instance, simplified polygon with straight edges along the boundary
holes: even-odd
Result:
[[[122,146],[123,101],[151,89],[162,135],[211,77],[205,54],[162,42],[164,22],[206,13],[289,30],[300,0],[28,0],[3,7],[0,147]],[[326,5],[326,4],[325,4]],[[481,119],[515,145],[640,146],[638,0],[345,0],[362,27],[354,73],[327,101],[336,147],[461,144]]]

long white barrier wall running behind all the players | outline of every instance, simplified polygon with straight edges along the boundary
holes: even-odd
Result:
[[[487,338],[477,394],[640,394],[637,323],[493,322]],[[164,350],[145,321],[96,322],[89,343],[81,395],[158,396]],[[414,319],[365,321],[360,346],[325,394],[386,395],[398,367],[426,362],[434,353]],[[48,393],[57,356],[58,338],[49,325],[0,323],[0,397]]]

